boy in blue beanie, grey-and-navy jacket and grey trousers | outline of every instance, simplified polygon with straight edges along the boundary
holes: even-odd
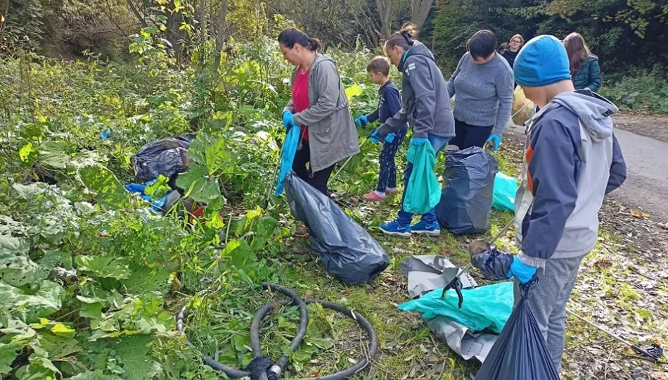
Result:
[[[610,116],[617,107],[588,89],[575,91],[558,39],[543,35],[529,41],[513,71],[540,110],[527,122],[522,184],[515,198],[520,252],[494,265],[512,262],[508,277],[520,284],[539,278],[528,302],[560,371],[566,302],[580,262],[596,246],[603,198],[624,182],[626,164],[612,133]]]

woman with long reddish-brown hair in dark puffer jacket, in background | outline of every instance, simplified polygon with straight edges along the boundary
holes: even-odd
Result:
[[[600,65],[598,57],[594,56],[582,36],[571,33],[564,39],[564,47],[570,62],[570,75],[573,77],[575,89],[600,89]]]

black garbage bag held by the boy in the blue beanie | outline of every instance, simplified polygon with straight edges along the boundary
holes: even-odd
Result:
[[[559,380],[527,299],[538,284],[520,285],[522,298],[482,363],[475,380]]]

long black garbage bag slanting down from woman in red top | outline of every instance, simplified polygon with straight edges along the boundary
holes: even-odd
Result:
[[[383,272],[385,250],[336,203],[294,172],[285,177],[285,195],[293,216],[309,229],[311,249],[328,273],[349,285],[365,284]]]

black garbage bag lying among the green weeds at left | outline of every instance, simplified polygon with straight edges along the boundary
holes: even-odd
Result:
[[[152,141],[139,149],[130,158],[134,175],[140,183],[148,182],[164,175],[172,179],[170,186],[176,181],[179,173],[188,168],[188,146],[195,139],[194,134],[184,134]],[[172,186],[174,188],[174,186]]]

